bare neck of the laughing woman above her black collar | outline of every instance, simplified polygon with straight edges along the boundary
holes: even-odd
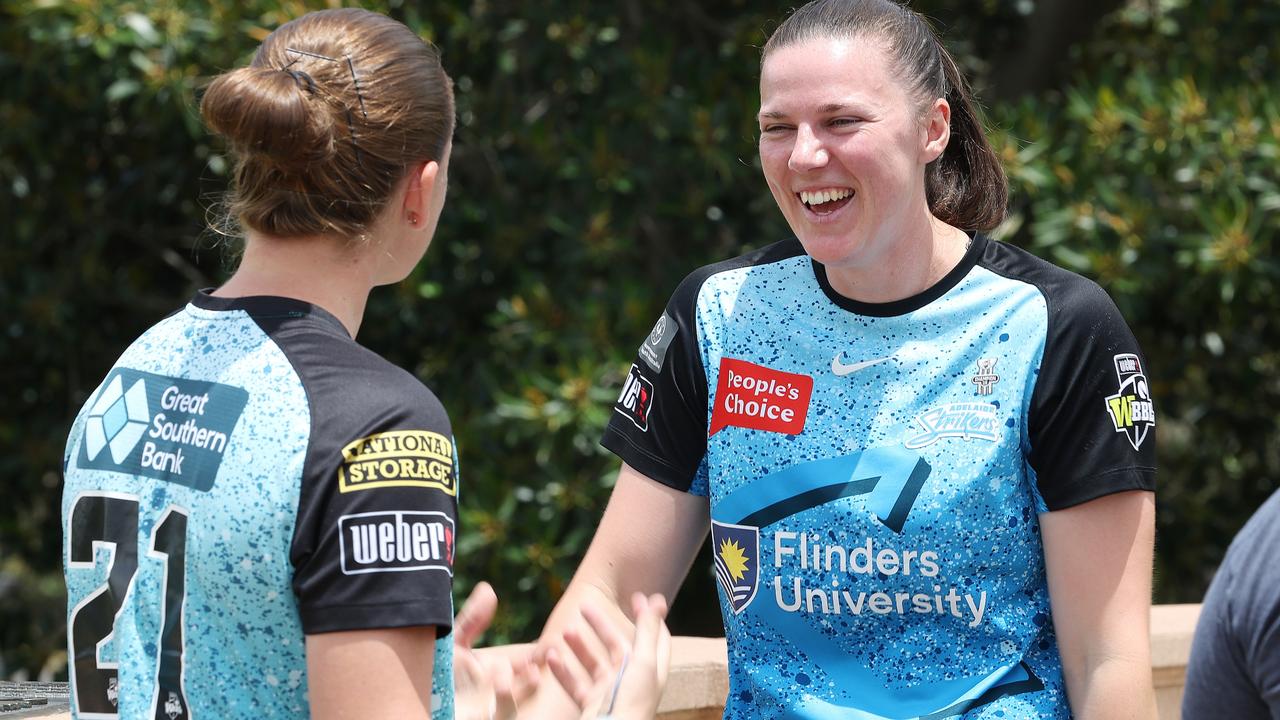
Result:
[[[893,302],[924,292],[950,273],[969,247],[964,231],[933,215],[887,247],[850,266],[827,266],[832,290],[859,302]]]

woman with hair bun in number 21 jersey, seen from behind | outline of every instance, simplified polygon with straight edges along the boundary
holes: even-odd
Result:
[[[453,433],[353,340],[435,231],[449,77],[403,24],[324,10],[201,113],[243,256],[124,351],[68,439],[73,714],[452,717]]]

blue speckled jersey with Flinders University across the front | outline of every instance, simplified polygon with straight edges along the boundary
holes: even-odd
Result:
[[[792,241],[691,275],[645,346],[604,443],[709,497],[726,717],[1070,716],[1037,518],[1153,487],[1101,290],[978,237],[859,304]]]

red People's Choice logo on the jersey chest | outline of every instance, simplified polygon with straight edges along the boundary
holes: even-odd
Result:
[[[710,437],[736,425],[769,433],[800,434],[809,415],[813,378],[722,357],[712,410]]]

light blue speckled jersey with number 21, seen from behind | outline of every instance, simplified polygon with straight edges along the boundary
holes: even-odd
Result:
[[[349,401],[344,383],[369,400]],[[393,387],[365,387],[381,383]],[[375,407],[388,397],[397,407]],[[358,442],[397,432],[448,447],[425,473],[380,478],[398,487],[360,487]],[[406,445],[397,462],[415,455]],[[306,633],[447,634],[452,457],[435,398],[332,315],[197,296],[124,352],[68,441],[74,715],[308,717]],[[452,717],[448,637],[434,691],[435,716]]]

